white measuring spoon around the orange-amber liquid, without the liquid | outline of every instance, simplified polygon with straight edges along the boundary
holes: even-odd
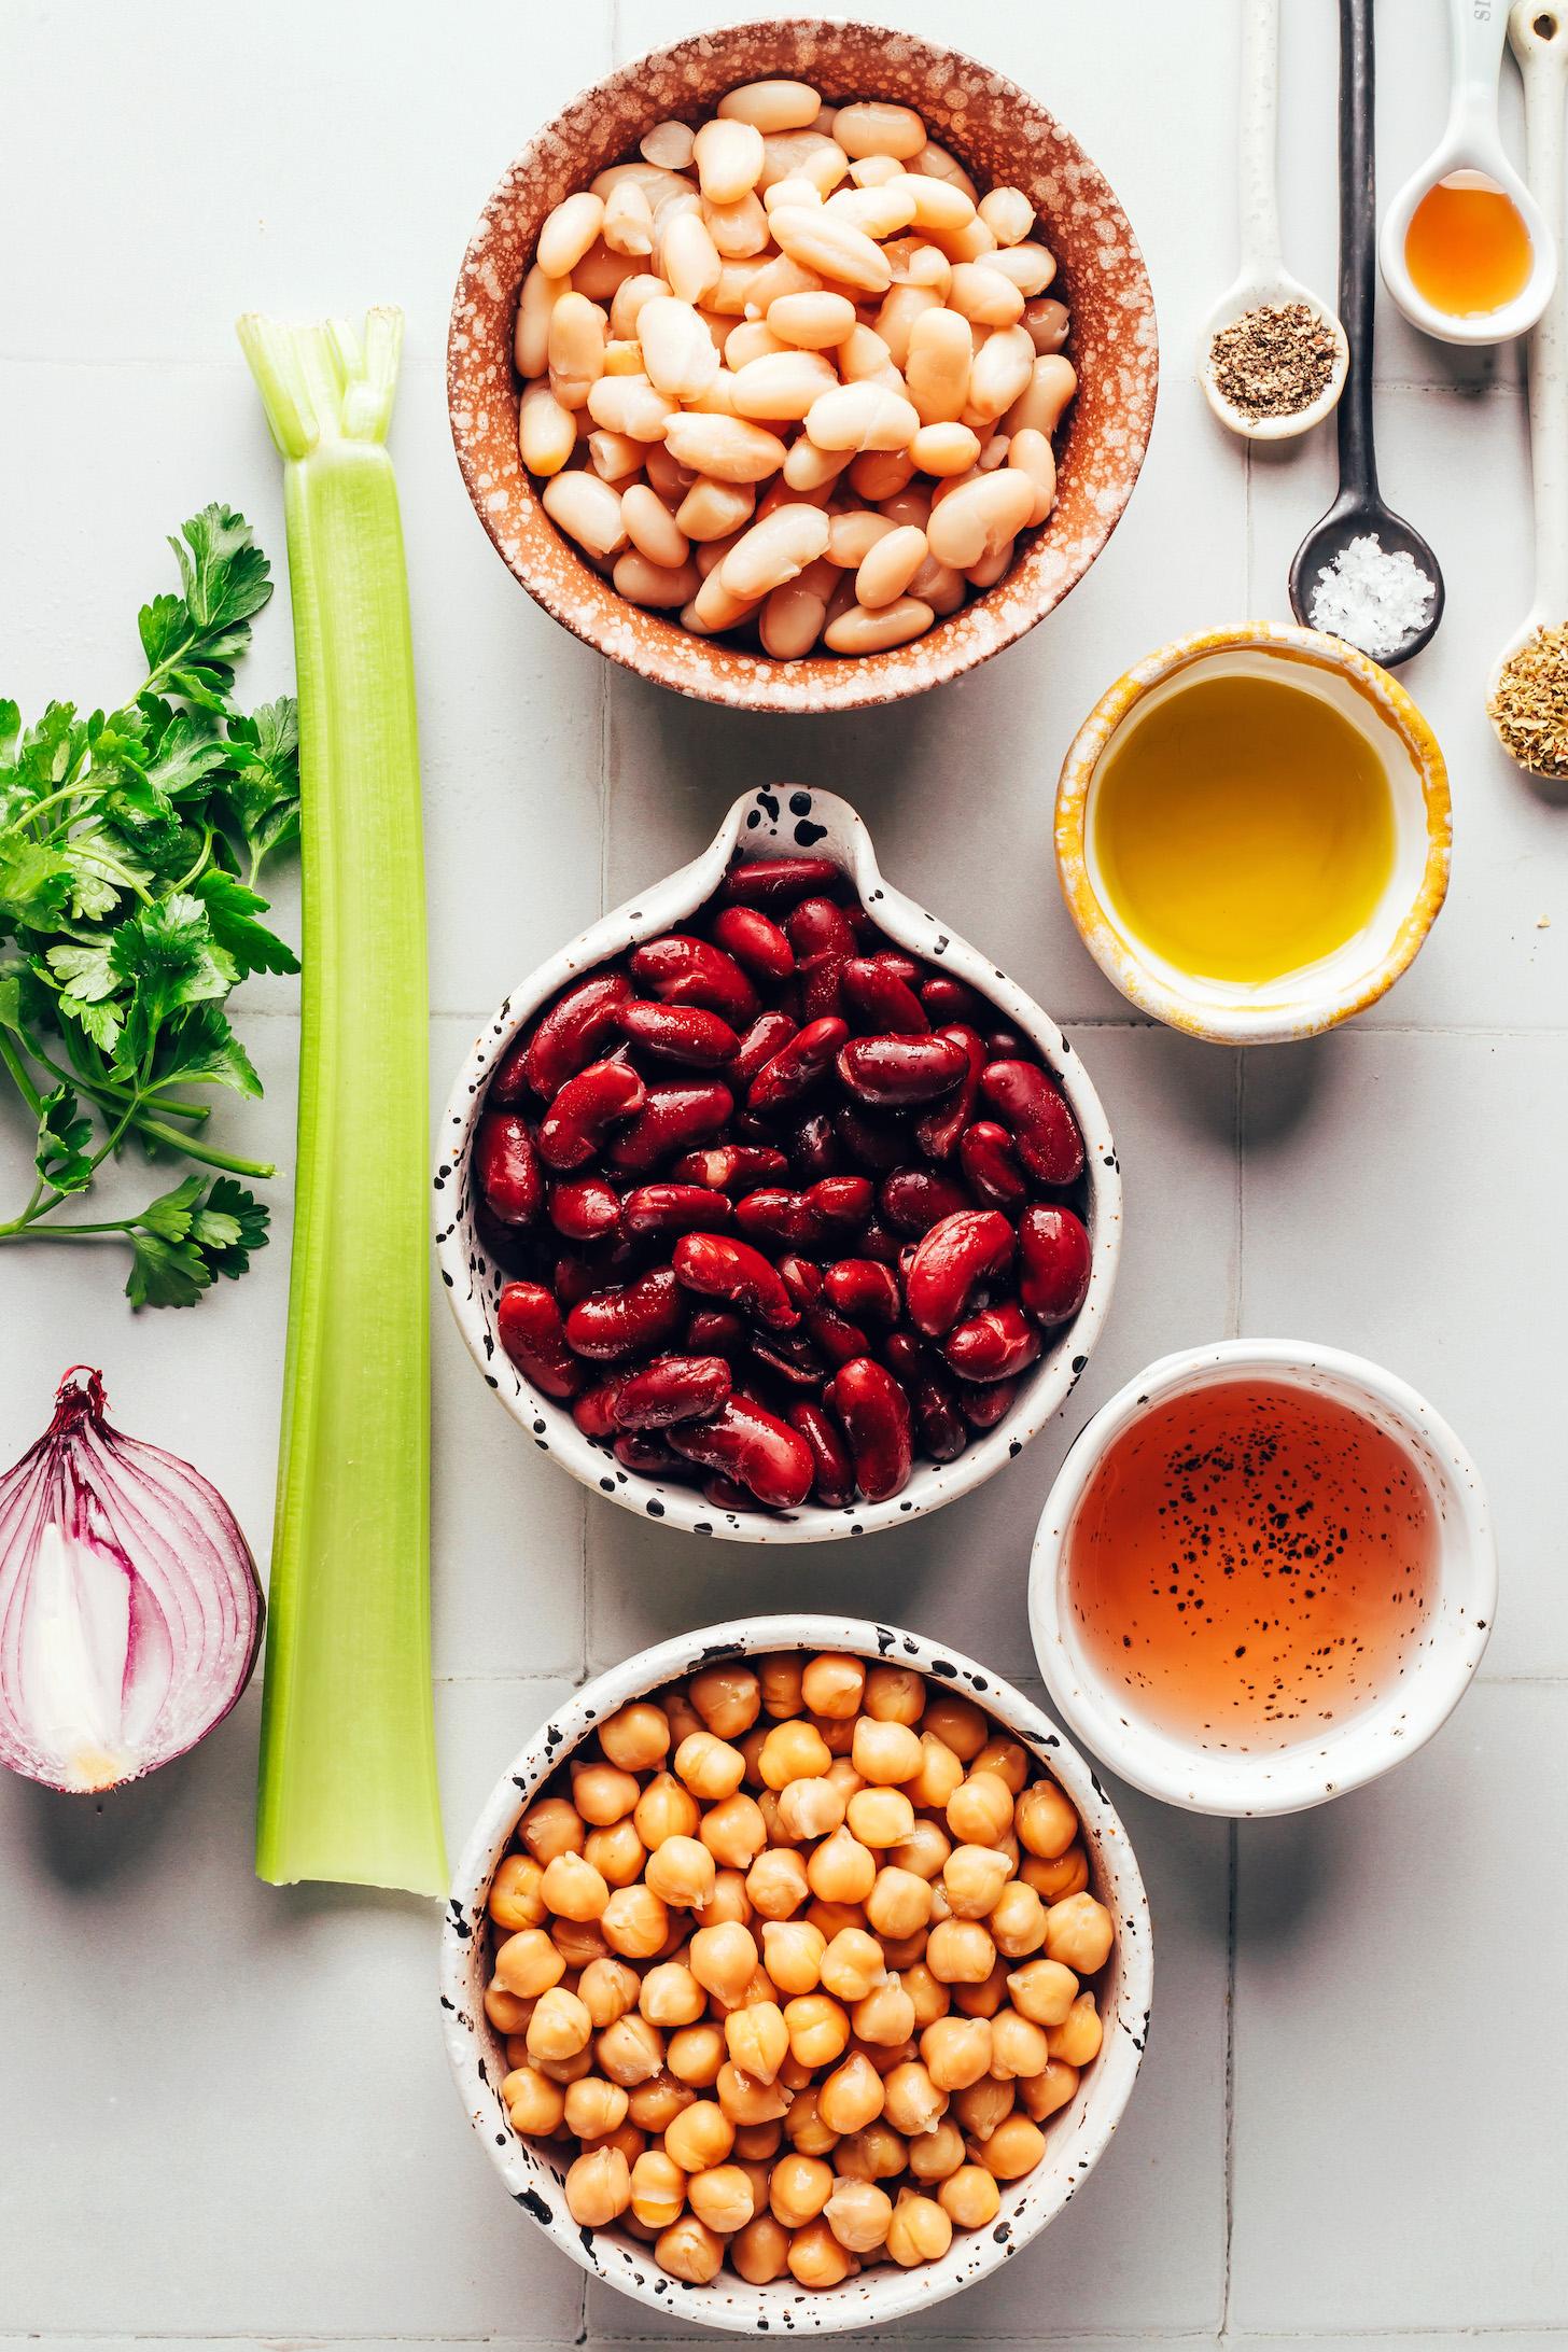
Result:
[[[1505,0],[1448,0],[1448,38],[1453,59],[1453,96],[1448,101],[1448,125],[1420,172],[1403,183],[1387,214],[1378,259],[1382,282],[1422,334],[1439,343],[1507,343],[1535,325],[1552,301],[1556,285],[1556,214],[1547,214],[1502,148],[1497,129],[1497,73],[1502,71],[1502,35],[1507,31]],[[1533,266],[1523,289],[1497,310],[1474,310],[1455,315],[1429,303],[1410,278],[1406,263],[1406,238],[1415,207],[1429,188],[1455,174],[1490,181],[1500,188],[1530,235]]]

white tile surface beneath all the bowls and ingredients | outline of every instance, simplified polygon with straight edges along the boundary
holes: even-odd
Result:
[[[437,1305],[454,1839],[567,1682],[703,1618],[853,1597],[1027,1675],[1023,1569],[1051,1472],[1110,1388],[1168,1345],[1314,1331],[1427,1388],[1472,1439],[1502,1536],[1481,1689],[1403,1773],[1298,1823],[1239,1835],[1126,1799],[1159,1929],[1138,2098],[1044,2246],[900,2336],[1460,2352],[1505,2331],[1509,2352],[1547,2352],[1568,2338],[1568,1917],[1552,1863],[1568,1731],[1568,809],[1502,762],[1481,713],[1490,654],[1528,602],[1519,353],[1446,353],[1380,306],[1385,487],[1429,532],[1450,597],[1406,682],[1448,750],[1458,818],[1453,898],[1401,988],[1356,1033],[1253,1054],[1241,1082],[1234,1056],[1128,1021],[1051,870],[1056,771],[1093,699],[1161,637],[1284,616],[1286,562],[1333,489],[1326,437],[1248,466],[1192,381],[1199,320],[1234,268],[1237,7],[971,0],[959,26],[938,0],[858,0],[961,40],[1074,127],[1145,245],[1164,393],[1126,522],[1032,640],[886,713],[748,724],[609,670],[517,593],[463,499],[442,400],[451,280],[505,162],[611,56],[712,9],[0,0],[0,689],[110,696],[134,607],[162,583],[162,534],[212,496],[240,503],[282,564],[277,466],[233,318],[397,299],[437,1101],[522,971],[689,856],[736,790],[797,776],[860,802],[889,870],[1070,1025],[1110,1105],[1128,1242],[1105,1343],[1006,1477],[898,1541],[705,1548],[585,1498],[487,1397]],[[1385,195],[1443,113],[1441,14],[1378,7]],[[1286,247],[1331,292],[1333,12],[1284,19]],[[1505,82],[1516,136],[1512,68]],[[277,597],[249,691],[289,670]],[[296,931],[287,875],[277,906]],[[226,1131],[277,1155],[284,1235],[289,983],[252,990],[247,1035],[268,1098],[226,1112]],[[16,1150],[0,1112],[0,1164]],[[284,1289],[275,1247],[195,1315],[132,1322],[96,1258],[0,1254],[9,1454],[85,1355],[122,1418],[200,1461],[263,1552]],[[651,2314],[585,2298],[463,2129],[430,1917],[254,1884],[254,1738],[256,1693],[200,1755],[101,1811],[0,1783],[0,2338],[190,2352],[649,2336]]]

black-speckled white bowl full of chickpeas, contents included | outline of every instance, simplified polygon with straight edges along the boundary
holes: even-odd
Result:
[[[719,2328],[865,2328],[1077,2194],[1150,2027],[1093,1771],[961,1653],[712,1625],[578,1691],[496,1783],[442,1936],[463,2107],[588,2272]]]

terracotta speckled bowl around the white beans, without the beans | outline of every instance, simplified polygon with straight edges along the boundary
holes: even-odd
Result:
[[[701,120],[738,82],[795,75],[823,96],[917,106],[983,181],[1020,186],[1058,259],[1079,393],[1058,440],[1058,503],[1020,562],[914,644],[771,661],[696,637],[616,595],[559,536],[517,456],[512,313],[545,214],[635,153],[668,115]],[[468,496],[522,586],[588,644],[658,684],[741,710],[856,710],[922,694],[1023,637],[1081,581],[1133,494],[1159,376],[1154,294],[1126,214],[1079,143],[987,66],[872,24],[769,19],[698,33],[585,89],[517,158],[480,216],[451,306],[447,400]]]

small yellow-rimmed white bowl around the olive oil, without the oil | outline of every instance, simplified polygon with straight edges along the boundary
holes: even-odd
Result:
[[[1328,701],[1371,743],[1394,814],[1392,873],[1366,922],[1333,955],[1267,983],[1204,978],[1152,950],[1114,908],[1095,851],[1095,786],[1112,743],[1154,699],[1234,675],[1272,677]],[[1279,621],[1199,630],[1147,654],[1079,727],[1056,793],[1056,870],[1095,964],[1140,1011],[1215,1044],[1316,1037],[1375,1004],[1436,922],[1450,842],[1448,767],[1406,689],[1338,637]]]

